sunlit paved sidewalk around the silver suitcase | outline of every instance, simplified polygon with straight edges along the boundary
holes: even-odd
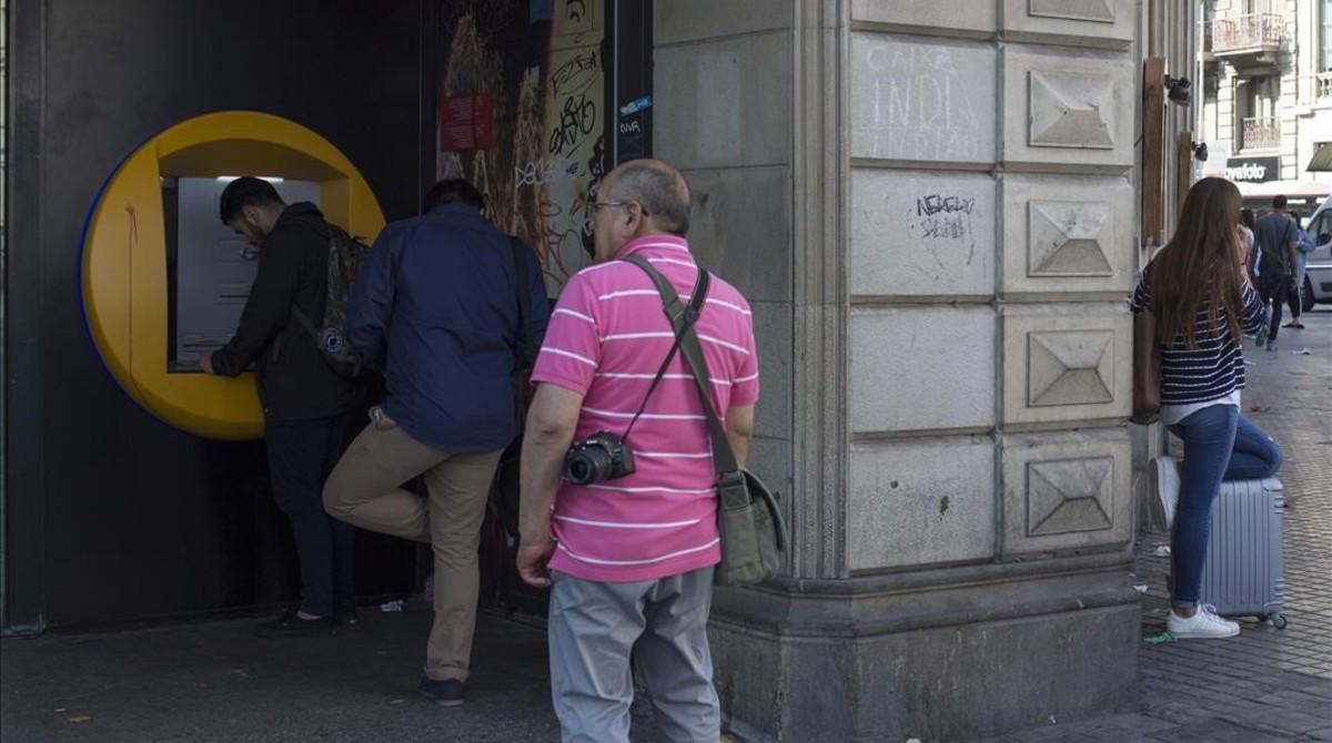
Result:
[[[1237,638],[1143,644],[1142,712],[1006,736],[1006,742],[1332,740],[1332,309],[1281,329],[1279,350],[1245,348],[1244,415],[1285,455],[1285,630],[1240,620]],[[1309,354],[1295,354],[1308,349]],[[1175,442],[1177,445],[1177,441]],[[1169,534],[1138,535],[1143,636],[1166,630]],[[1058,722],[1058,720],[1056,720]]]

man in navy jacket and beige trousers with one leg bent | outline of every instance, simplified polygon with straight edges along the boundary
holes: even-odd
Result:
[[[384,370],[388,395],[324,487],[329,514],[432,545],[434,626],[421,691],[445,706],[462,703],[468,680],[481,522],[500,454],[518,433],[514,372],[523,348],[539,348],[550,314],[535,253],[515,252],[482,209],[470,184],[441,181],[424,216],[390,224],[370,249],[346,336]],[[402,489],[418,475],[426,501]]]

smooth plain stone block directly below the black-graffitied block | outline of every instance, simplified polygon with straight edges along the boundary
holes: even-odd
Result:
[[[988,306],[852,308],[848,334],[854,433],[994,425]]]

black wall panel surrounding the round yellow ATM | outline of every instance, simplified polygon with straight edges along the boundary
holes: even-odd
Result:
[[[388,218],[416,213],[434,144],[422,142],[422,5],[28,0],[9,12],[5,626],[289,598],[294,558],[262,446],[180,433],[119,389],[84,326],[80,236],[123,157],[221,109],[320,132]],[[401,542],[365,538],[358,562],[362,594],[416,579]]]

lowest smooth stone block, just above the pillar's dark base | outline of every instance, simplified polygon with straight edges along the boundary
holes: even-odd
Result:
[[[988,559],[995,549],[995,446],[987,437],[851,447],[852,571]]]

